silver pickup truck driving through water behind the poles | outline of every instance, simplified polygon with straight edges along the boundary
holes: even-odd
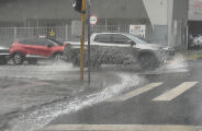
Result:
[[[167,46],[149,44],[146,40],[124,33],[96,33],[91,35],[91,64],[130,64],[137,63],[142,69],[154,70],[171,59],[175,50]],[[67,61],[79,66],[80,43],[69,41],[64,50]],[[85,63],[87,60],[87,43],[85,43]]]

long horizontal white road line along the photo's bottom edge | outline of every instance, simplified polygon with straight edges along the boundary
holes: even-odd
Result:
[[[201,128],[178,124],[53,124],[41,131],[200,131]]]

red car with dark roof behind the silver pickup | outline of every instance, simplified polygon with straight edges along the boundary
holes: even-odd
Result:
[[[53,39],[30,38],[15,40],[10,48],[10,55],[14,64],[22,64],[24,60],[36,63],[38,59],[60,58],[67,44],[60,44]]]

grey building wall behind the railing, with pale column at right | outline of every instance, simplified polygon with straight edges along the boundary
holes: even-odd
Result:
[[[80,20],[72,3],[74,0],[1,0],[0,26],[70,26]],[[91,13],[99,19],[97,26],[119,26],[120,32],[128,32],[130,25],[146,25],[149,41],[171,46],[184,43],[187,7],[188,0],[91,0]]]

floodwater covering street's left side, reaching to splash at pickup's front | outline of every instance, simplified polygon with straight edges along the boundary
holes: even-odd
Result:
[[[79,83],[79,69],[69,63],[1,67],[1,81],[4,81],[0,92],[0,97],[3,97],[0,112],[4,118],[0,122],[1,129],[38,130],[59,116],[76,114],[145,85],[149,82],[146,75],[171,75],[176,71],[188,73],[183,63],[187,62],[168,64],[172,67],[169,73],[161,69],[142,73],[135,68],[128,72],[128,68],[115,66],[114,70],[114,66],[103,66],[99,71],[92,71],[91,85]]]

